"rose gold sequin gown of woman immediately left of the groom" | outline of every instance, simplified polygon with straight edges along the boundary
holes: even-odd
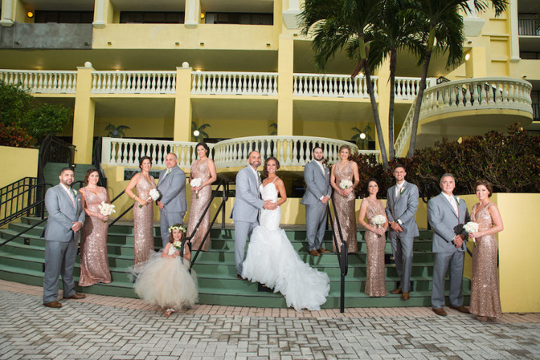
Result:
[[[207,181],[207,179],[210,179],[210,170],[208,169],[208,160],[205,162],[201,162],[200,160],[196,160],[193,162],[193,165],[191,165],[191,178],[192,179],[201,179],[204,181]],[[197,222],[200,219],[200,216],[205,211],[206,205],[208,205],[208,202],[210,201],[210,198],[212,197],[212,186],[208,185],[204,188],[199,190],[199,197],[197,198],[197,195],[195,195],[195,191],[191,193],[191,206],[189,209],[189,222],[188,222],[188,231],[187,235],[190,236],[193,232],[193,229],[195,229],[195,225],[197,225]],[[203,221],[200,222],[199,229],[197,229],[197,233],[195,233],[195,236],[191,238],[191,249],[193,251],[197,250],[200,246],[200,243],[203,242],[203,236],[205,236],[206,231],[208,230],[208,226],[210,225],[210,209],[205,214],[205,217],[203,218]],[[210,236],[207,236],[205,240],[205,245],[201,250],[207,251],[210,247]]]

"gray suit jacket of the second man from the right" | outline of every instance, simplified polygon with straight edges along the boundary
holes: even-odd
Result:
[[[396,186],[392,186],[387,191],[386,197],[386,216],[388,221],[401,220],[401,229],[403,231],[398,233],[393,231],[392,228],[388,228],[390,237],[399,235],[401,238],[414,238],[419,236],[418,226],[416,225],[416,219],[414,215],[418,209],[418,187],[415,184],[411,184],[404,181],[401,186],[401,193],[396,199]]]

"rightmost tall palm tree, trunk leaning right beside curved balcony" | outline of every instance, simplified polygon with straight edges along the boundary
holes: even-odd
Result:
[[[428,77],[431,56],[434,53],[448,52],[446,67],[451,68],[461,63],[463,59],[463,17],[459,11],[471,11],[467,0],[408,0],[407,13],[411,17],[418,17],[424,25],[419,30],[425,45],[423,54],[423,69],[420,79],[420,89],[416,95],[416,108],[413,114],[411,141],[407,157],[414,155],[416,146],[416,131],[418,130],[418,118],[420,106],[425,90],[425,79]],[[477,12],[486,11],[488,3],[495,9],[495,16],[501,15],[506,9],[505,0],[474,0]]]

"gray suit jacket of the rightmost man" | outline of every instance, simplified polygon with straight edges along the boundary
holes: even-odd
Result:
[[[456,198],[456,202],[459,215],[442,193],[428,201],[428,221],[433,230],[432,252],[463,252],[467,249],[465,241],[459,249],[452,244],[454,236],[458,234],[465,235],[465,240],[468,238],[467,232],[463,230],[463,224],[469,221],[467,204],[463,199],[458,201]]]

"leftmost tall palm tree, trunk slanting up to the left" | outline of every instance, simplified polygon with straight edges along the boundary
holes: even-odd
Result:
[[[373,0],[306,0],[299,18],[302,34],[307,36],[310,30],[313,32],[311,47],[316,53],[315,62],[319,70],[323,70],[328,59],[342,49],[345,49],[347,56],[357,63],[351,75],[352,79],[364,70],[380,155],[386,169],[388,158],[385,139],[371,84],[371,64],[368,61],[370,44],[373,40],[372,25],[377,21],[380,3],[381,1]]]

